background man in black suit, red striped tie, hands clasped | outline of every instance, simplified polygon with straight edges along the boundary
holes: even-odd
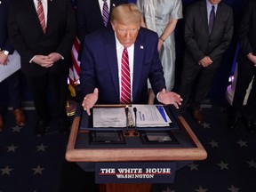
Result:
[[[70,0],[13,0],[9,10],[10,37],[20,53],[21,70],[28,76],[34,96],[36,134],[44,135],[50,120],[49,92],[53,118],[60,132],[67,132],[68,67],[76,36],[76,18]]]

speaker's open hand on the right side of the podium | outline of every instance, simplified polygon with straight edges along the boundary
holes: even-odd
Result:
[[[162,102],[164,105],[174,105],[175,108],[179,108],[179,105],[181,105],[182,98],[180,98],[180,95],[176,92],[166,92],[165,89],[163,89],[158,94],[158,99],[160,102]]]

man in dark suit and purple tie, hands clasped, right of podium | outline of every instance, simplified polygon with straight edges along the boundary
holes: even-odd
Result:
[[[222,54],[233,36],[232,9],[220,0],[200,0],[191,4],[185,14],[184,36],[186,50],[178,90],[184,101],[180,111],[183,112],[193,90],[192,116],[202,124],[201,102],[211,88]]]

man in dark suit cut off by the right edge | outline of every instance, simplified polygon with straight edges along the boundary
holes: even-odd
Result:
[[[236,127],[240,119],[249,132],[255,132],[256,123],[256,1],[250,0],[245,7],[244,17],[239,28],[240,52],[237,57],[236,91],[233,100],[233,118],[230,128]],[[254,76],[254,77],[253,77]],[[253,80],[252,80],[253,78]],[[252,82],[246,105],[244,96]]]

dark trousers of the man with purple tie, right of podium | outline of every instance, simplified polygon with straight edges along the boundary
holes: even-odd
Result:
[[[219,67],[220,62],[214,62],[212,65],[204,68],[196,62],[184,62],[181,81],[178,93],[183,99],[180,109],[186,107],[191,93],[191,107],[193,109],[200,108],[202,100],[205,99],[207,93],[211,89],[213,78]]]

